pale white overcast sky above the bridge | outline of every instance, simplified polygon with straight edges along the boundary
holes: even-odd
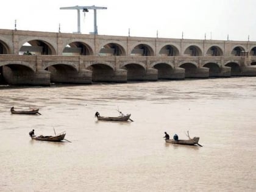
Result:
[[[256,41],[255,0],[9,0],[0,6],[0,29],[77,32],[73,6],[97,10],[99,35]],[[80,11],[82,34],[94,31],[93,10]]]

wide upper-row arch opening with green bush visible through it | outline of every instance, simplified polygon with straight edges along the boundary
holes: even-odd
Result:
[[[36,55],[56,55],[56,49],[52,46],[51,43],[45,40],[40,39],[30,39],[27,41],[22,41],[23,44],[20,42],[20,49],[19,54],[23,54],[29,51],[31,54]],[[30,45],[25,45],[30,44]]]

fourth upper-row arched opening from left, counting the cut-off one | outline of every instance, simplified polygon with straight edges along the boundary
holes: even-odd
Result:
[[[103,56],[121,56],[126,55],[126,52],[124,51],[124,48],[116,43],[108,43],[105,44],[101,50],[99,51],[99,55]]]

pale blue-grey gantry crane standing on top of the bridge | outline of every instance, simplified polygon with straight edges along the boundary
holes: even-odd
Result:
[[[83,10],[83,12],[88,12],[89,9],[93,9],[94,11],[94,32],[93,34],[98,35],[98,29],[97,29],[97,9],[107,9],[107,7],[96,7],[95,5],[92,6],[74,6],[74,7],[60,7],[60,9],[76,9],[77,10],[77,34],[81,33],[80,30],[80,10]]]

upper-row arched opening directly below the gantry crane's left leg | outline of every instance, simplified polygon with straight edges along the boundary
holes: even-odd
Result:
[[[63,49],[62,55],[93,55],[93,50],[88,46],[88,44],[75,41],[66,45]]]

